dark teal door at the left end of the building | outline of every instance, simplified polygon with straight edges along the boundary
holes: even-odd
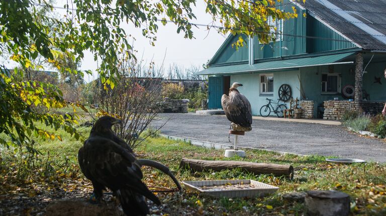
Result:
[[[209,109],[221,109],[221,97],[224,93],[223,77],[209,77]]]

